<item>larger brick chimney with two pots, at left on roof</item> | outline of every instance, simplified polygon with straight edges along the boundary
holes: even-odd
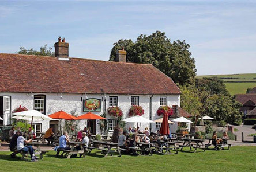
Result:
[[[65,38],[58,38],[58,42],[54,44],[55,47],[55,57],[59,58],[69,58],[69,43],[65,42]]]

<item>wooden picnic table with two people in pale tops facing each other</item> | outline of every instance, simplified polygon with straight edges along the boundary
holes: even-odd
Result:
[[[67,157],[70,158],[71,155],[73,154],[82,154],[83,157],[85,158],[86,151],[88,151],[86,148],[84,148],[84,144],[82,142],[67,142],[69,147],[71,148],[70,150],[65,150],[62,148],[58,148],[56,156],[58,157],[59,153],[62,151],[61,157]],[[76,146],[79,146],[81,150],[76,150]]]

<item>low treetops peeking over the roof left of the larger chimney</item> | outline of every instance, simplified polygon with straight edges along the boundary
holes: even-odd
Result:
[[[20,46],[20,50],[16,52],[18,54],[27,54],[27,55],[36,55],[36,56],[54,56],[54,52],[52,52],[51,47],[47,47],[47,45],[41,46],[40,51],[31,49],[25,49],[23,46]]]

